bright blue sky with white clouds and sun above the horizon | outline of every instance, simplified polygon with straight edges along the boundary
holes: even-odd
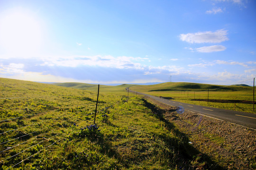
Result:
[[[255,0],[0,0],[0,77],[253,85]]]

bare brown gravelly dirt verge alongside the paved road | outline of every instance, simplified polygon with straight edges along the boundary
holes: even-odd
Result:
[[[163,116],[189,137],[190,144],[228,170],[256,170],[256,130],[189,110],[182,114],[147,98],[165,112]]]

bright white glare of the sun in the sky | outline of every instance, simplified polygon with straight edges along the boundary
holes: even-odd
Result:
[[[20,9],[1,14],[0,46],[7,55],[35,55],[41,42],[41,26],[32,14]]]

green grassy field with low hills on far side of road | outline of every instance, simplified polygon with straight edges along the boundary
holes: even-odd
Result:
[[[253,113],[253,87],[237,85],[220,87],[223,86],[163,83],[159,85],[134,85],[130,89],[154,96],[163,96],[178,102]],[[209,102],[207,102],[208,89]]]

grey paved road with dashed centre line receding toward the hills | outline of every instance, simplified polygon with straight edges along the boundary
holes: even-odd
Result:
[[[129,90],[129,92],[134,92]],[[185,110],[191,110],[196,113],[200,113],[202,115],[210,116],[213,118],[226,120],[232,123],[236,123],[238,125],[243,125],[246,127],[254,128],[256,129],[256,114],[253,113],[247,113],[242,111],[234,111],[234,110],[225,110],[225,109],[217,109],[207,106],[199,106],[194,104],[188,104],[183,102],[175,102],[164,98],[155,97],[149,94],[145,93],[139,93],[148,97],[153,98],[156,101],[171,105],[171,106],[182,106]]]

